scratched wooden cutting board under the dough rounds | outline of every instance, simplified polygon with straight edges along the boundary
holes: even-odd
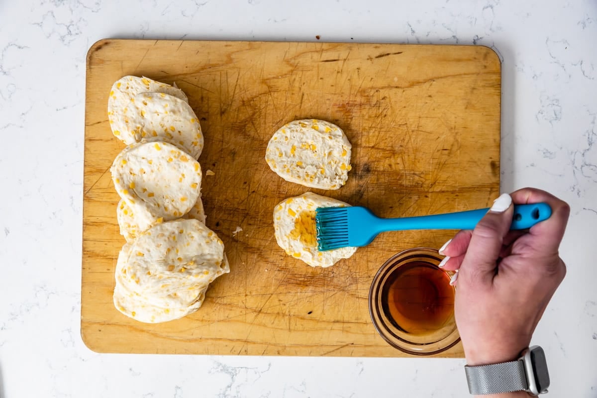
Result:
[[[207,226],[230,273],[203,307],[147,325],[112,304],[124,244],[110,165],[124,144],[106,106],[124,75],[176,82],[201,120]],[[264,161],[294,119],[339,125],[352,143],[340,190],[313,192],[382,217],[488,206],[500,181],[500,61],[487,47],[297,42],[103,40],[87,56],[81,335],[112,353],[380,356],[406,354],[379,337],[371,280],[398,251],[439,247],[453,231],[386,233],[328,269],[288,257],[273,237],[274,206],[306,187]],[[233,236],[236,227],[242,232]],[[441,356],[461,357],[458,344]]]

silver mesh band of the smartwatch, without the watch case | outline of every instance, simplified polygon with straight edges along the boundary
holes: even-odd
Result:
[[[471,394],[511,393],[528,389],[522,360],[494,365],[464,366]]]

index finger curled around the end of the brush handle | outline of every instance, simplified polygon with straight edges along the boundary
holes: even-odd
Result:
[[[570,206],[564,200],[535,188],[523,188],[512,192],[512,201],[516,204],[547,203],[552,208],[551,217],[534,225],[529,230],[533,239],[533,247],[543,253],[558,252],[559,244],[570,216]]]

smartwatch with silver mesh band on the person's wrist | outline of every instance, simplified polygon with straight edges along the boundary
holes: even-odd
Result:
[[[547,393],[549,372],[543,348],[538,345],[522,351],[512,362],[494,365],[464,366],[469,392],[475,395],[526,391],[538,395]]]

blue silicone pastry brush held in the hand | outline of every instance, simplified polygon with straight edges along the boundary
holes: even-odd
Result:
[[[414,229],[474,229],[489,208],[420,217],[379,218],[369,209],[327,207],[316,209],[317,247],[328,251],[347,246],[367,246],[381,232]],[[547,220],[547,203],[514,205],[511,230],[527,229]]]

